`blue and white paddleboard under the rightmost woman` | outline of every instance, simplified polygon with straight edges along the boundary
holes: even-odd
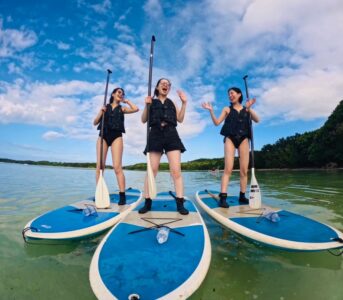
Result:
[[[343,233],[326,224],[287,210],[262,204],[259,209],[240,205],[238,197],[228,197],[229,208],[218,207],[217,191],[196,193],[199,205],[223,226],[251,240],[295,251],[343,248]],[[277,215],[272,215],[275,213]],[[276,219],[273,219],[273,218]]]

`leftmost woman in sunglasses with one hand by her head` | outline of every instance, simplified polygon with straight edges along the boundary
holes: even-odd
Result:
[[[111,147],[113,169],[117,177],[119,186],[119,205],[126,204],[125,197],[125,176],[122,169],[123,158],[123,138],[125,133],[124,114],[131,114],[138,111],[138,107],[130,100],[124,98],[125,92],[122,88],[115,88],[111,94],[110,103],[103,106],[94,119],[93,124],[98,126],[101,131],[101,118],[104,115],[104,136],[103,136],[103,170],[105,170],[106,156],[108,148]],[[128,107],[121,106],[121,102],[128,105]],[[96,143],[97,164],[96,164],[96,182],[100,175],[100,147],[101,147],[101,133]]]

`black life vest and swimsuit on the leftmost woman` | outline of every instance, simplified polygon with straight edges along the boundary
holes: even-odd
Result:
[[[100,130],[99,136],[101,136],[101,121],[99,123],[98,129]],[[118,105],[114,109],[112,109],[112,106],[108,104],[105,111],[103,135],[107,146],[110,147],[117,138],[123,136],[123,133],[125,133],[125,127],[124,113],[121,105]]]

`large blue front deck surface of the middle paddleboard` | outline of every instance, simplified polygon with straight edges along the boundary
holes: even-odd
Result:
[[[191,276],[204,251],[201,225],[177,228],[185,236],[170,232],[168,241],[161,245],[156,230],[129,234],[141,228],[120,223],[100,253],[100,276],[118,299],[128,299],[133,293],[140,299],[168,294]]]

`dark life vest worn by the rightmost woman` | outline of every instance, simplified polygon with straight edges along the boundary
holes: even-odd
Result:
[[[230,113],[225,118],[220,131],[223,136],[246,136],[250,138],[250,116],[246,107],[240,112],[230,106]]]

